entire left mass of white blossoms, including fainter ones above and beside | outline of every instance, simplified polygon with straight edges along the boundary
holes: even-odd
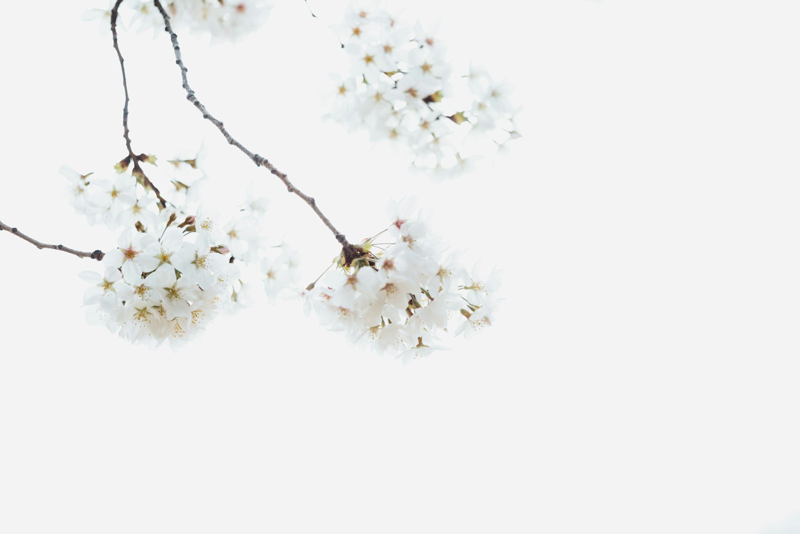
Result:
[[[195,160],[170,164],[186,168],[187,176],[196,167]],[[78,213],[90,223],[122,228],[117,247],[105,253],[104,272],[81,274],[90,283],[84,295],[90,324],[105,325],[133,343],[169,341],[178,347],[218,313],[249,304],[255,288],[274,299],[296,287],[296,255],[264,236],[266,199],[255,197],[252,186],[225,222],[216,210],[198,205],[194,191],[202,178],[175,177],[173,201],[164,206],[142,177],[126,173],[126,165],[117,169],[111,179],[61,169]]]

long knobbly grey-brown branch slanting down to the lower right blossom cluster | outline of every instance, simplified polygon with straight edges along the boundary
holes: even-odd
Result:
[[[360,255],[361,253],[360,249],[358,249],[358,247],[354,245],[350,245],[350,243],[346,240],[344,234],[339,232],[338,229],[336,229],[336,227],[330,222],[328,217],[326,217],[325,214],[322,213],[322,211],[318,208],[317,202],[314,200],[314,198],[309,197],[308,195],[306,195],[306,193],[303,193],[300,189],[296,188],[294,184],[292,184],[292,182],[289,181],[289,177],[286,176],[286,173],[283,173],[282,171],[275,168],[275,165],[272,165],[270,161],[266,159],[266,157],[262,157],[259,156],[258,153],[251,152],[244,145],[242,145],[242,143],[236,141],[236,139],[234,139],[234,137],[228,133],[228,130],[226,130],[225,126],[222,124],[222,121],[218,120],[212,114],[210,114],[208,110],[206,110],[206,106],[203,106],[202,103],[198,100],[197,96],[194,94],[194,90],[192,90],[192,88],[189,86],[189,80],[186,78],[186,72],[189,69],[187,69],[186,65],[184,65],[183,63],[183,59],[181,57],[181,48],[180,46],[178,46],[178,35],[175,34],[175,32],[172,30],[172,26],[170,26],[170,15],[166,13],[166,10],[164,10],[164,7],[161,5],[161,2],[159,2],[159,0],[155,0],[154,4],[161,12],[162,18],[164,18],[164,31],[166,31],[167,34],[170,34],[170,39],[172,40],[172,48],[175,52],[175,63],[181,69],[181,77],[183,79],[183,89],[186,90],[186,100],[194,104],[194,107],[196,107],[198,110],[200,110],[200,113],[202,113],[202,117],[209,120],[212,124],[214,124],[214,126],[217,127],[217,129],[220,132],[222,132],[222,135],[225,136],[226,140],[230,145],[234,145],[236,148],[240,149],[243,153],[247,155],[247,157],[250,158],[251,161],[253,161],[259,167],[265,167],[266,169],[268,169],[270,173],[273,173],[283,182],[284,185],[286,185],[286,189],[288,189],[290,193],[296,194],[298,197],[302,198],[302,200],[305,201],[306,204],[310,205],[311,209],[314,210],[314,213],[317,213],[317,216],[334,234],[336,240],[342,244],[342,249],[345,253],[346,263],[349,264],[354,257]]]

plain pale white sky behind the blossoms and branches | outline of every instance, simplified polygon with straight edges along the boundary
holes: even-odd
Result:
[[[0,220],[78,249],[115,237],[58,167],[125,155],[102,4],[6,2],[0,34]],[[498,324],[403,366],[282,301],[151,352],[85,325],[95,264],[2,233],[0,532],[800,532],[800,6],[404,4],[514,83],[510,156],[432,185],[321,124],[342,55],[300,0],[237,46],[180,35],[190,82],[350,237],[418,195],[503,269]],[[186,102],[166,34],[120,46],[134,150],[206,138],[220,207],[261,181],[313,280],[335,241]]]

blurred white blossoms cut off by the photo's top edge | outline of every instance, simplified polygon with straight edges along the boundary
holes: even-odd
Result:
[[[111,9],[94,9],[86,12],[86,20],[100,20],[102,31],[110,29]],[[164,19],[152,0],[125,0],[120,23],[138,30],[164,30]],[[164,0],[162,6],[170,14],[176,29],[186,28],[193,34],[208,34],[212,41],[235,41],[242,35],[258,30],[272,10],[266,0]]]

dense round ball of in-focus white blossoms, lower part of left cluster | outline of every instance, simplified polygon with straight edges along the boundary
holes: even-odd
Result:
[[[230,302],[238,267],[224,246],[193,232],[196,220],[176,225],[170,215],[161,236],[126,230],[106,253],[105,273],[86,271],[90,323],[102,323],[133,343],[182,345],[196,337]],[[194,242],[190,234],[194,233]]]

